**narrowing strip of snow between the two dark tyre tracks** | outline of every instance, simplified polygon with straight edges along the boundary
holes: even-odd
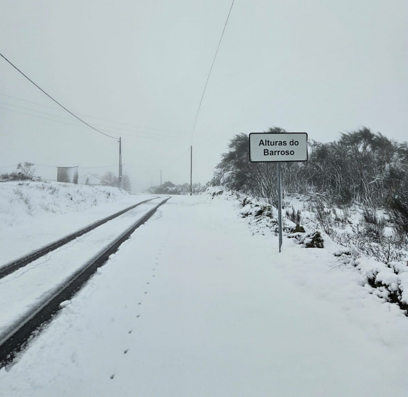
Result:
[[[162,200],[143,203],[0,279],[0,343],[16,324],[27,321],[33,310],[57,294],[73,274]]]

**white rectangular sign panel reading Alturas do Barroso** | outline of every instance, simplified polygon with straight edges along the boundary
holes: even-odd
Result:
[[[308,161],[308,134],[249,134],[249,161]]]

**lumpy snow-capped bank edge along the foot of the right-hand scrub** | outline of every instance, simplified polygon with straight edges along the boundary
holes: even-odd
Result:
[[[221,197],[232,201],[237,208],[237,215],[249,225],[252,235],[277,235],[276,208],[225,188],[209,188],[207,193],[213,199]],[[349,248],[334,243],[312,218],[305,219],[304,224],[308,226],[302,226],[303,230],[299,232],[295,223],[283,217],[284,235],[290,239],[291,244],[301,248],[313,248],[316,246],[317,236],[324,245],[320,256],[327,256],[326,266],[330,268],[328,270],[339,268],[338,270],[344,272],[358,272],[361,278],[357,282],[364,287],[366,293],[378,298],[378,302],[385,304],[389,310],[408,316],[407,263],[395,260],[384,263],[362,253],[351,252]],[[284,243],[291,246],[286,239]],[[294,276],[296,277],[296,274]]]

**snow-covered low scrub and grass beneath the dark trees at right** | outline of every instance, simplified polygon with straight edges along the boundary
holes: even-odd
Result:
[[[277,235],[276,208],[225,188],[212,187],[207,193],[235,201],[238,215],[246,219],[252,235]],[[328,209],[321,203],[305,204],[303,199],[300,195],[287,199],[290,207],[283,210],[283,234],[304,248],[321,248],[316,244],[321,238],[323,249],[338,262],[333,268],[358,271],[368,293],[408,315],[408,251],[406,246],[393,243],[385,214],[355,206]],[[303,230],[296,229],[296,224]]]

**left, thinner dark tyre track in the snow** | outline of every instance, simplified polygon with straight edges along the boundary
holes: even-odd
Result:
[[[155,198],[158,198],[158,197],[155,197]],[[22,256],[21,258],[18,258],[14,260],[13,262],[7,263],[5,266],[2,266],[0,268],[0,279],[8,276],[9,274],[15,272],[16,270],[20,268],[23,268],[24,266],[33,262],[34,260],[37,260],[41,256],[46,255],[48,252],[54,251],[57,248],[62,247],[63,245],[69,243],[70,241],[77,239],[77,237],[82,236],[83,234],[88,233],[89,231],[93,229],[96,229],[98,226],[103,225],[104,223],[107,223],[111,221],[112,219],[119,217],[120,215],[126,213],[127,211],[130,211],[131,209],[136,208],[140,204],[144,204],[144,203],[147,203],[148,201],[154,200],[155,198],[144,200],[144,201],[141,201],[140,203],[137,203],[135,205],[122,209],[116,214],[113,214],[107,218],[104,218],[104,219],[101,219],[100,221],[92,223],[91,225],[84,227],[83,229],[80,229],[72,234],[68,234],[67,236],[63,237],[63,239],[61,240],[58,240],[52,244],[44,246],[37,251],[31,252],[28,255]]]

